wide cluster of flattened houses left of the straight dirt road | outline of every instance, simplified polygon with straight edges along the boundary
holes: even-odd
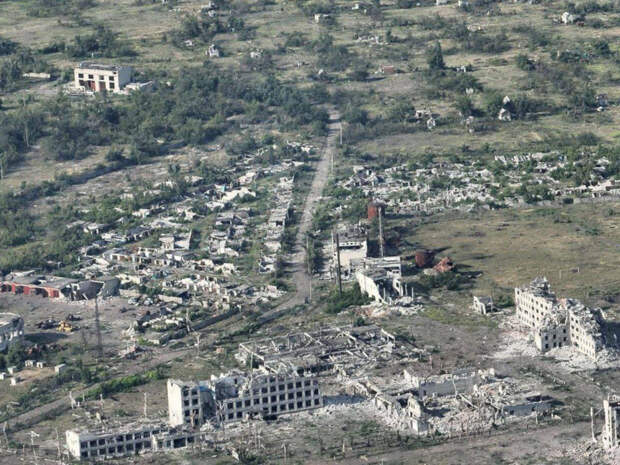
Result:
[[[298,158],[307,156],[311,149],[294,142],[286,144],[287,153]],[[33,270],[13,272],[0,279],[0,292],[65,300],[120,294],[130,303],[161,306],[159,311],[151,307],[138,315],[138,326],[144,324],[153,328],[184,325],[180,307],[198,306],[216,313],[229,312],[281,297],[283,292],[276,286],[254,285],[239,277],[236,260],[252,241],[260,240],[250,225],[261,223],[257,212],[243,202],[256,196],[251,187],[258,180],[275,179],[272,194],[275,208],[265,214],[268,215],[266,222],[259,227],[264,229],[264,243],[272,248],[266,248],[264,262],[271,257],[268,253],[275,254],[279,250],[284,220],[291,209],[294,172],[303,162],[286,159],[262,167],[259,157],[260,153],[240,158],[234,169],[238,176],[227,184],[206,185],[198,176],[186,176],[185,181],[192,190],[169,201],[157,199],[164,188],[173,187],[169,185],[173,181],[154,184],[145,195],[155,201],[131,212],[131,224],[138,223],[137,226],[126,227],[127,222],[122,221],[126,217],[113,224],[81,220],[69,224],[68,228],[80,229],[93,239],[80,249],[77,271],[70,277]],[[121,198],[131,201],[135,195],[124,192]],[[200,231],[205,246],[196,249],[194,243],[198,240],[187,222],[208,213],[215,215],[214,226],[210,231]],[[151,238],[149,246],[140,244],[150,236],[157,240]],[[271,261],[275,263],[275,255]],[[264,267],[259,270],[269,271]],[[145,289],[149,296],[144,293]]]

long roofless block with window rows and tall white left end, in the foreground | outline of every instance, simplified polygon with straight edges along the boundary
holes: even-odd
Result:
[[[234,373],[210,381],[168,380],[172,426],[200,426],[207,421],[232,422],[278,416],[323,407],[316,379],[293,373]]]

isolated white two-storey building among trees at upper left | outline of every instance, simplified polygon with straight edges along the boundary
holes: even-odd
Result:
[[[73,73],[77,89],[87,92],[118,93],[131,82],[132,68],[83,62]]]

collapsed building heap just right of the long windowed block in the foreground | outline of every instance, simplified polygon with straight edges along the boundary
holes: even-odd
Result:
[[[371,397],[383,420],[416,435],[481,432],[522,417],[546,415],[552,399],[495,370],[460,370],[400,379],[349,380],[349,390]]]

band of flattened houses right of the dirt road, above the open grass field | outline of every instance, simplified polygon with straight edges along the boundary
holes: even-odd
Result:
[[[515,190],[521,187],[523,177],[529,174],[533,164],[532,183],[546,186],[554,198],[620,196],[620,183],[607,177],[610,161],[605,157],[593,160],[588,183],[576,187],[554,178],[554,172],[568,167],[568,162],[557,153],[500,155],[495,157],[495,163],[503,166],[501,176],[507,178],[508,186]],[[427,168],[398,165],[381,171],[355,166],[353,175],[345,179],[341,187],[350,191],[360,189],[366,197],[384,202],[392,213],[403,215],[471,209],[489,203],[510,206],[524,202],[518,195],[499,199],[497,194],[504,191],[502,183],[491,170],[477,164],[433,162]]]

